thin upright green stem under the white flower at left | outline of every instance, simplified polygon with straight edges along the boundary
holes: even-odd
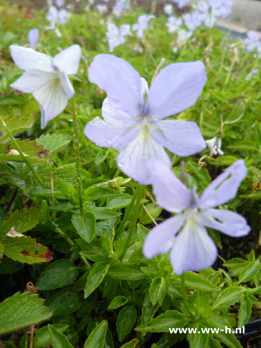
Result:
[[[78,125],[77,125],[77,113],[75,108],[75,100],[74,95],[71,99],[72,104],[72,120],[73,120],[73,129],[74,129],[74,150],[76,152],[75,162],[76,162],[76,182],[77,182],[77,189],[78,189],[78,198],[79,198],[79,205],[80,205],[80,213],[81,215],[84,215],[84,203],[83,203],[83,197],[82,197],[82,191],[81,191],[81,166],[80,166],[80,151],[79,151],[79,134],[78,134]]]

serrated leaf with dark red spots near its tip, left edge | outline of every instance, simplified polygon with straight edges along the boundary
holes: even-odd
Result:
[[[31,237],[14,237],[3,239],[3,253],[15,261],[29,264],[52,260],[52,251],[42,244],[36,243]]]

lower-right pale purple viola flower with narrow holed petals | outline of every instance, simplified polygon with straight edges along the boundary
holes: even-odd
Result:
[[[205,189],[198,198],[189,191],[169,168],[158,161],[148,164],[157,204],[176,215],[152,228],[144,245],[145,258],[170,253],[176,274],[211,267],[217,248],[205,227],[214,228],[231,237],[248,235],[246,219],[226,209],[214,209],[235,198],[239,184],[246,176],[243,159],[239,159]]]

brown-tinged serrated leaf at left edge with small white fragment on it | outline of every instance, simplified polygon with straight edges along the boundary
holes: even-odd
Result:
[[[49,150],[44,148],[43,145],[36,143],[36,141],[23,140],[20,141],[16,139],[19,148],[22,150],[26,159],[29,163],[42,164],[43,162],[50,162],[54,158],[49,154]],[[6,143],[0,144],[0,161],[10,161],[10,162],[23,162],[24,159],[20,155],[12,155],[11,150],[17,150],[12,141],[7,141]]]

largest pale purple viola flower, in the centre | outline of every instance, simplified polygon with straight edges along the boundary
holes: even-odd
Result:
[[[118,167],[140,184],[150,184],[149,159],[171,168],[164,148],[181,157],[205,149],[195,122],[162,120],[195,104],[207,81],[202,62],[168,65],[148,90],[148,84],[129,63],[99,54],[88,77],[106,91],[107,97],[102,104],[104,120],[97,117],[88,122],[84,134],[99,146],[120,151]]]

